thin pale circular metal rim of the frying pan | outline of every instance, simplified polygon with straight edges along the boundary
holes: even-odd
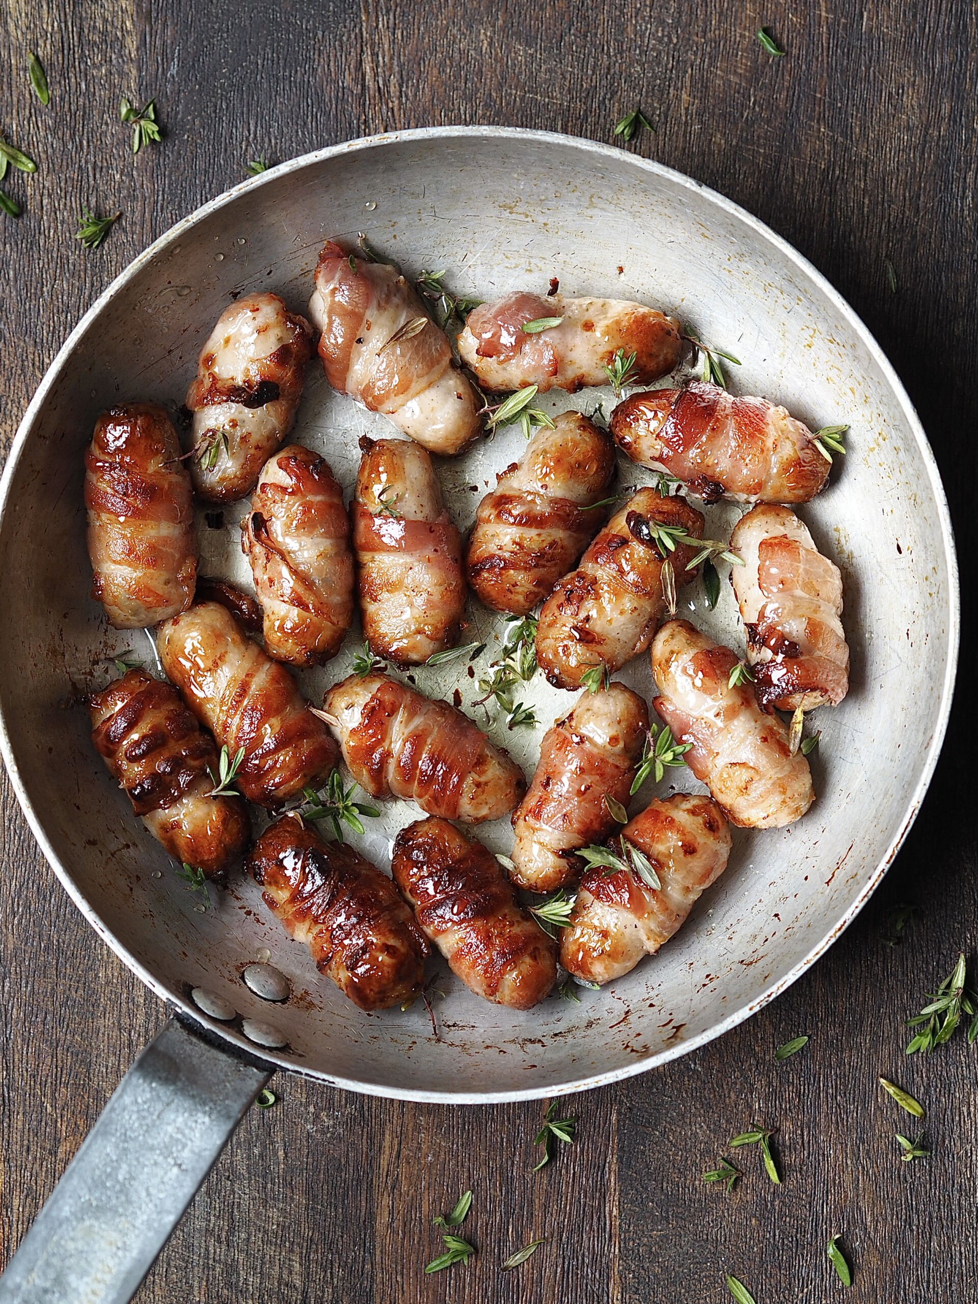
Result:
[[[879,366],[883,374],[885,385],[889,387],[896,403],[898,404],[910,432],[913,433],[917,446],[919,449],[923,466],[927,475],[927,482],[930,485],[930,492],[934,498],[938,520],[940,523],[941,544],[944,549],[944,559],[948,571],[948,608],[947,608],[947,621],[948,621],[948,655],[944,666],[944,681],[941,685],[940,703],[934,720],[934,730],[931,734],[931,741],[927,747],[925,756],[925,763],[922,765],[917,785],[914,786],[913,794],[906,807],[904,820],[885,849],[885,853],[880,857],[880,861],[870,875],[868,882],[858,893],[855,900],[846,908],[841,918],[828,930],[828,932],[816,941],[806,955],[781,978],[772,982],[765,990],[752,1000],[745,1001],[738,1009],[730,1011],[725,1017],[709,1029],[704,1029],[695,1037],[690,1037],[686,1041],[678,1042],[665,1050],[656,1051],[634,1063],[622,1064],[615,1069],[606,1071],[604,1073],[584,1074],[579,1078],[567,1082],[559,1082],[552,1086],[533,1086],[518,1090],[499,1090],[499,1091],[451,1091],[451,1090],[421,1090],[421,1089],[406,1089],[394,1085],[382,1085],[374,1081],[360,1081],[357,1078],[335,1077],[333,1074],[319,1072],[318,1069],[304,1068],[301,1064],[296,1064],[293,1060],[279,1055],[275,1051],[267,1051],[265,1048],[257,1048],[254,1043],[246,1041],[241,1034],[216,1024],[215,1021],[206,1020],[201,1017],[201,1012],[189,1000],[189,998],[179,996],[171,990],[168,990],[159,979],[156,979],[146,966],[133,956],[126,947],[111,932],[111,930],[103,923],[98,913],[93,909],[85,895],[74,884],[74,882],[68,875],[67,870],[61,866],[53,846],[51,845],[43,823],[34,808],[34,805],[26,792],[22,777],[20,775],[14,755],[13,745],[7,728],[7,720],[4,719],[3,711],[0,709],[0,755],[3,755],[7,771],[10,776],[10,784],[17,795],[17,801],[21,810],[27,819],[31,832],[40,846],[51,868],[55,871],[61,885],[67,889],[69,897],[76,904],[76,906],[82,913],[86,922],[95,930],[95,932],[106,941],[112,951],[119,956],[119,958],[151,990],[154,991],[167,1005],[176,1007],[180,1009],[181,1015],[189,1018],[196,1025],[206,1028],[211,1035],[219,1035],[223,1042],[230,1046],[239,1047],[248,1051],[250,1055],[256,1052],[261,1055],[263,1060],[267,1060],[276,1067],[297,1073],[303,1077],[309,1077],[316,1081],[325,1082],[330,1086],[342,1088],[344,1090],[359,1091],[365,1095],[385,1097],[390,1099],[402,1101],[417,1101],[420,1103],[434,1103],[434,1104],[501,1104],[516,1101],[532,1101],[541,1099],[544,1097],[554,1095],[567,1095],[575,1091],[592,1090],[599,1086],[606,1086],[612,1082],[623,1081],[625,1078],[636,1076],[638,1073],[648,1072],[660,1064],[666,1064],[670,1060],[678,1059],[682,1055],[689,1054],[705,1046],[708,1042],[717,1037],[724,1035],[730,1031],[738,1024],[743,1022],[751,1015],[756,1013],[776,996],[781,995],[788,987],[792,986],[807,969],[810,969],[815,961],[824,955],[824,952],[841,936],[846,927],[853,922],[853,919],[859,914],[862,908],[866,905],[868,898],[872,896],[875,889],[879,887],[885,871],[893,862],[897,852],[904,844],[906,835],[909,833],[917,815],[919,812],[923,798],[930,786],[931,778],[934,777],[934,771],[940,755],[940,750],[944,742],[944,735],[947,733],[948,720],[951,716],[951,707],[953,700],[955,678],[957,670],[958,652],[960,652],[960,580],[958,580],[958,567],[957,556],[955,548],[953,527],[951,522],[951,512],[947,503],[947,496],[944,493],[944,485],[938,469],[934,452],[931,450],[927,436],[923,430],[923,425],[917,415],[917,411],[910,402],[910,398],[900,381],[896,370],[887,359],[883,348],[876,342],[872,333],[865,325],[858,313],[852,308],[852,305],[838,293],[837,289],[831,284],[831,282],[793,245],[772,231],[765,223],[759,218],[755,218],[746,209],[741,207],[732,200],[720,194],[717,190],[695,181],[692,177],[686,176],[674,168],[666,167],[655,159],[645,159],[636,154],[630,154],[623,151],[618,146],[604,145],[597,141],[588,141],[583,137],[567,136],[559,132],[541,132],[529,128],[518,126],[464,126],[464,125],[446,125],[446,126],[426,126],[415,128],[411,130],[402,132],[382,132],[373,136],[359,137],[352,141],[342,141],[336,145],[326,146],[321,150],[314,150],[309,154],[300,155],[299,158],[289,159],[284,163],[278,164],[274,168],[269,168],[258,177],[252,177],[246,181],[241,181],[232,186],[230,190],[223,192],[206,203],[201,205],[188,216],[183,218],[162,236],[153,241],[141,254],[138,254],[95,299],[91,306],[83,313],[73,330],[68,334],[67,339],[56,352],[51,364],[48,365],[44,376],[40,379],[27,409],[18,425],[17,433],[14,436],[13,443],[10,446],[10,452],[7,458],[7,464],[3,471],[3,477],[0,477],[0,536],[3,535],[7,512],[10,509],[9,505],[9,492],[13,482],[17,466],[23,454],[23,450],[30,439],[33,426],[43,407],[44,402],[53,385],[59,379],[65,365],[69,363],[72,353],[76,348],[77,342],[81,336],[90,329],[90,326],[96,321],[104,306],[132,280],[134,279],[142,267],[170,245],[180,240],[188,231],[196,227],[198,223],[209,218],[211,214],[219,211],[227,205],[232,203],[244,193],[252,193],[257,186],[262,186],[269,181],[273,181],[284,175],[299,172],[306,167],[316,166],[327,159],[348,154],[351,151],[365,151],[373,149],[381,149],[387,145],[403,145],[412,141],[432,141],[432,140],[459,140],[459,138],[494,138],[494,140],[532,140],[544,145],[561,146],[563,149],[574,149],[576,151],[591,153],[597,158],[613,159],[615,163],[621,164],[623,160],[638,170],[638,172],[644,172],[651,176],[660,177],[669,184],[678,186],[681,189],[687,189],[704,196],[713,206],[725,213],[729,216],[737,218],[739,222],[750,227],[758,236],[764,241],[768,241],[773,248],[776,248],[781,254],[786,257],[808,280],[833,304],[836,310],[846,319],[850,329],[855,336],[861,340],[863,347],[867,349],[874,363]]]

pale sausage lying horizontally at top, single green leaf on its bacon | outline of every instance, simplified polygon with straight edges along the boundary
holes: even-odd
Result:
[[[528,322],[559,317],[558,326],[527,333]],[[635,355],[630,383],[648,385],[678,364],[679,323],[655,308],[622,299],[541,299],[518,291],[468,314],[458,339],[463,363],[488,390],[570,390],[608,385],[606,366],[622,349]]]

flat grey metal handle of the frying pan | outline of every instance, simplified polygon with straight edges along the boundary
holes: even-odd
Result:
[[[273,1072],[171,1020],[21,1241],[0,1304],[126,1304]]]

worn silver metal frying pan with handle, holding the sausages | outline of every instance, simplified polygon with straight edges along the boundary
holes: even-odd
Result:
[[[802,511],[842,567],[853,657],[849,698],[818,713],[812,811],[785,831],[737,831],[725,876],[683,931],[625,979],[579,990],[579,1001],[518,1013],[445,975],[437,1038],[420,1003],[374,1015],[346,1003],[256,884],[237,880],[205,909],[115,789],[78,704],[107,681],[113,655],[153,665],[149,636],[108,629],[89,597],[82,450],[96,413],[137,399],[180,403],[233,293],[275,289],[303,309],[323,240],[359,231],[408,275],[445,269],[459,295],[545,292],[557,276],[565,293],[653,304],[741,359],[729,368],[738,393],[776,399],[812,428],[850,426],[844,466]],[[546,403],[588,409],[601,396]],[[357,438],[379,433],[390,433],[382,417],[334,395],[310,368],[296,438],[323,451],[347,488]],[[520,441],[509,428],[439,464],[463,529]],[[643,479],[622,467],[623,484]],[[244,575],[240,512],[201,515],[203,574]],[[735,516],[709,509],[707,532],[716,537]],[[505,128],[321,150],[239,185],[151,245],[85,314],[27,409],[3,480],[0,576],[0,737],[18,799],[78,909],[175,1013],[27,1234],[0,1282],[4,1301],[129,1299],[275,1068],[404,1099],[516,1101],[643,1072],[746,1018],[822,955],[896,854],[934,769],[957,653],[939,475],[902,386],[853,310],[784,240],[695,181],[619,149]],[[698,582],[679,605],[742,645],[726,585],[716,612]],[[472,674],[462,659],[419,670],[416,682],[432,695],[459,689],[473,713],[502,622],[479,610],[471,619],[467,638],[488,644]],[[310,699],[348,672],[356,639],[347,643],[304,675]],[[622,678],[651,695],[645,659]],[[545,725],[574,700],[537,681],[524,699]],[[488,730],[532,768],[541,729],[507,732],[490,719]],[[669,777],[695,788],[689,772]],[[352,840],[386,867],[412,818],[389,803]],[[509,849],[506,822],[480,836]]]

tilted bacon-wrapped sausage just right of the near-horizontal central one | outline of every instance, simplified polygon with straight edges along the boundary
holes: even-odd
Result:
[[[648,707],[623,683],[584,692],[565,720],[548,729],[527,795],[512,815],[512,882],[552,892],[580,876],[582,846],[615,827],[606,797],[629,805],[648,733]]]

